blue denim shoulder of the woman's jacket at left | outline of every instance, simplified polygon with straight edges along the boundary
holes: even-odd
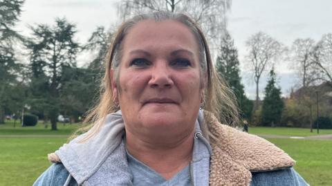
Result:
[[[33,185],[64,185],[68,177],[69,172],[62,163],[53,163],[53,165],[48,167],[48,169],[37,178]],[[77,185],[74,178],[71,178],[69,181],[68,185]]]

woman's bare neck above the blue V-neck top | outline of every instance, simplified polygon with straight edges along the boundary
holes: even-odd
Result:
[[[194,131],[169,139],[140,138],[126,132],[127,150],[131,156],[154,169],[166,180],[185,168],[192,160]]]

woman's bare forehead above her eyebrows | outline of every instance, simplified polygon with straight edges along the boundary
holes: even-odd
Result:
[[[137,48],[176,47],[198,53],[199,45],[192,31],[174,20],[144,20],[129,29],[124,37],[124,50]]]

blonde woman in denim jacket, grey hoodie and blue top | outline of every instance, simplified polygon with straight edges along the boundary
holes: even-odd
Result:
[[[103,86],[93,127],[50,154],[35,185],[306,185],[284,151],[214,118],[236,123],[237,109],[185,15],[124,22]]]

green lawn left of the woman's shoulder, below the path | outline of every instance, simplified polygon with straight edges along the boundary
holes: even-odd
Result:
[[[33,185],[66,138],[0,138],[0,185]]]

